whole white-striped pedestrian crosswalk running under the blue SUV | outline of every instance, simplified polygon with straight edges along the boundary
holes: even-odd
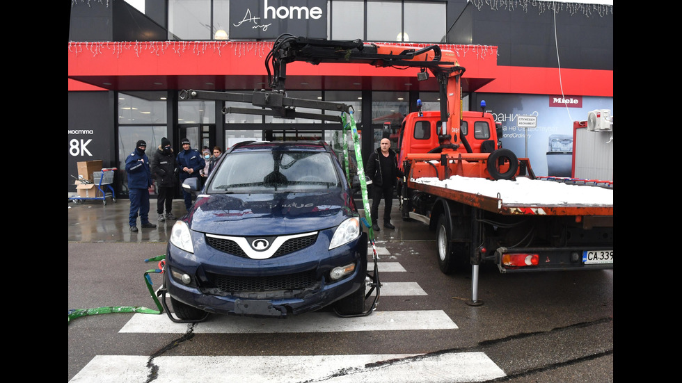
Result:
[[[390,254],[385,247],[380,255]],[[372,254],[370,249],[370,256]],[[383,257],[384,259],[388,257]],[[397,261],[378,263],[381,297],[427,295],[416,282],[383,282],[406,272]],[[402,278],[404,279],[404,278]],[[371,299],[371,298],[370,298]],[[315,311],[286,320],[210,316],[191,325],[193,334],[284,334],[457,330],[443,310],[379,309],[370,316],[340,318]],[[135,313],[121,334],[184,334],[189,325],[166,314]],[[293,345],[292,345],[293,347]],[[153,370],[153,373],[152,373]],[[381,355],[166,356],[97,355],[70,382],[484,382],[505,373],[483,352]]]

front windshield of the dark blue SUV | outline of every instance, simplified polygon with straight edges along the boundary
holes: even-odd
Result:
[[[326,152],[240,152],[227,154],[208,193],[290,193],[340,188]]]

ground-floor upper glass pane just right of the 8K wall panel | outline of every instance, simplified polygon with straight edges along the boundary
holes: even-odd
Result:
[[[119,124],[166,124],[166,92],[118,93]]]

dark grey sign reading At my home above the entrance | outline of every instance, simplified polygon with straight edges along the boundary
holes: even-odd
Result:
[[[230,39],[326,38],[326,0],[230,1]]]

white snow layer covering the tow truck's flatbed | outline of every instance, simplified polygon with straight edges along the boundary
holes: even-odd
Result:
[[[421,177],[411,181],[493,198],[498,198],[499,194],[505,204],[613,206],[613,189],[598,186],[571,185],[523,177],[518,177],[515,181],[461,176],[452,176],[442,181],[436,177]]]

